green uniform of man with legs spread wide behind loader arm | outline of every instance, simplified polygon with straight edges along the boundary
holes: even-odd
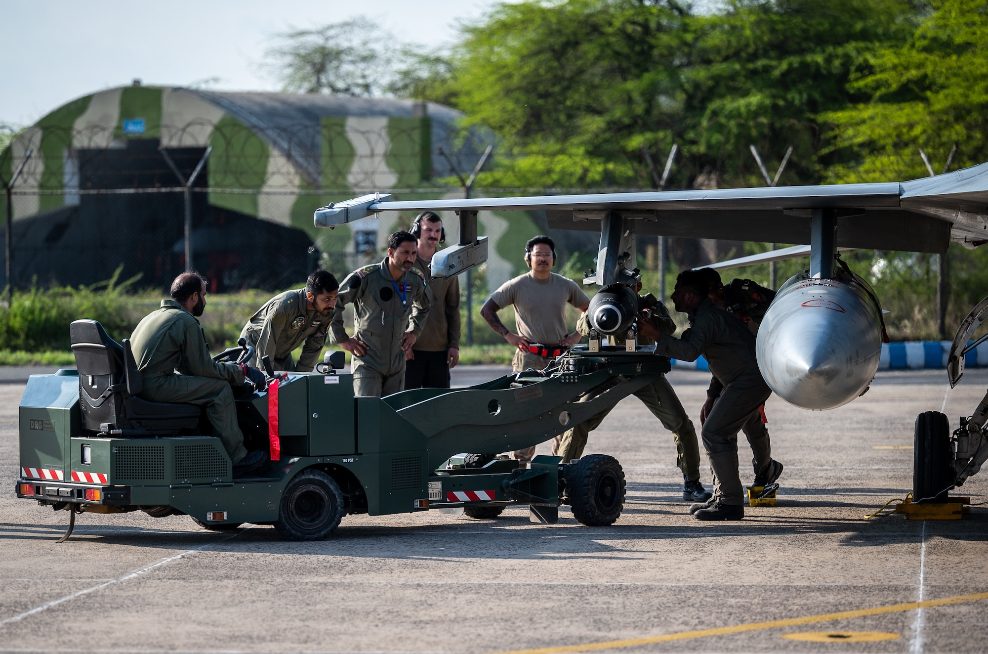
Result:
[[[669,311],[665,305],[661,302],[656,304],[652,312],[658,318],[659,331],[665,334],[676,332],[676,323],[669,317]],[[583,313],[577,321],[576,330],[582,336],[590,335],[586,313]],[[613,336],[609,338],[615,339]],[[624,344],[623,339],[615,340],[615,345]],[[651,340],[639,338],[638,343],[639,345],[649,345]],[[686,409],[683,408],[683,403],[676,396],[676,391],[666,379],[666,375],[663,374],[656,381],[635,391],[634,396],[648,407],[648,410],[659,419],[663,427],[673,433],[673,440],[676,442],[676,465],[687,478],[699,481],[700,445],[697,443],[697,431],[694,429],[693,421],[687,415]],[[562,456],[563,461],[582,456],[590,432],[600,426],[612,409],[614,409],[613,406],[566,431],[562,435],[562,443],[559,445],[557,455]]]

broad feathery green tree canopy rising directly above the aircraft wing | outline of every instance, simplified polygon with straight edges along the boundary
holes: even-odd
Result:
[[[864,54],[904,42],[909,0],[732,0],[698,15],[676,0],[499,5],[453,50],[456,104],[514,158],[483,183],[672,187],[764,184],[755,144],[784,180],[818,180],[815,115],[864,99],[847,89]],[[834,155],[836,156],[836,155]],[[502,163],[505,159],[502,151]]]

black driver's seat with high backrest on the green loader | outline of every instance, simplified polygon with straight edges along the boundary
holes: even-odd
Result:
[[[139,435],[199,425],[202,409],[195,404],[149,402],[137,397],[143,380],[128,340],[121,346],[95,320],[76,320],[69,326],[69,334],[79,368],[79,405],[86,429]]]

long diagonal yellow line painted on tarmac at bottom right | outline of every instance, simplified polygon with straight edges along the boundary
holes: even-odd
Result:
[[[829,622],[831,620],[843,620],[851,617],[865,617],[867,615],[882,615],[884,613],[902,613],[915,611],[916,609],[929,609],[932,607],[946,607],[951,604],[964,604],[967,602],[977,602],[988,600],[988,593],[974,593],[972,595],[957,595],[952,598],[942,598],[940,600],[927,600],[924,602],[907,602],[905,604],[893,604],[889,607],[875,607],[874,609],[859,609],[857,611],[842,611],[839,613],[821,613],[819,615],[806,615],[804,617],[789,617],[782,620],[769,620],[767,622],[748,622],[746,624],[735,624],[733,626],[718,626],[712,629],[698,629],[696,631],[680,631],[679,633],[666,633],[660,636],[645,636],[643,638],[623,638],[621,640],[604,640],[595,643],[581,643],[577,645],[560,645],[558,647],[538,647],[535,649],[516,649],[497,654],[560,654],[564,652],[592,652],[601,649],[618,649],[621,647],[636,647],[638,645],[651,645],[653,643],[674,642],[677,640],[690,640],[693,638],[706,638],[709,636],[726,636],[734,633],[744,633],[746,631],[760,631],[763,629],[776,629],[782,626],[797,626],[799,624],[812,624],[813,622]]]

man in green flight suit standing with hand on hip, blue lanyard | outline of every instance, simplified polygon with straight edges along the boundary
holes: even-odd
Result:
[[[405,357],[429,313],[426,280],[414,268],[417,241],[407,231],[387,237],[387,258],[354,271],[340,286],[331,329],[333,342],[353,355],[354,392],[383,397],[404,390]],[[343,311],[354,305],[354,336]]]

